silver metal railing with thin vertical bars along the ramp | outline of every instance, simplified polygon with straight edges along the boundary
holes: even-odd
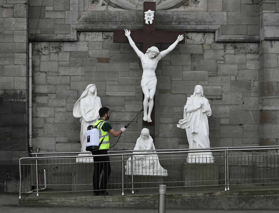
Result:
[[[80,152],[33,153],[35,157],[19,159],[19,198],[21,193],[37,193],[39,196],[39,192],[93,191],[94,164],[101,165],[106,161],[93,163],[92,158],[102,156],[110,157],[111,173],[106,189],[120,189],[122,195],[124,190],[133,194],[135,190],[154,189],[160,184],[182,188],[224,185],[225,191],[230,190],[230,185],[236,184],[277,184],[278,148],[279,146],[227,147],[164,149],[152,152],[127,150],[93,156],[76,156]],[[214,163],[187,163],[191,159],[188,158],[188,153],[195,152],[212,152]],[[203,158],[207,159],[208,156],[203,155],[201,159]],[[80,159],[87,159],[87,162],[80,162]],[[101,172],[97,171],[100,174]]]

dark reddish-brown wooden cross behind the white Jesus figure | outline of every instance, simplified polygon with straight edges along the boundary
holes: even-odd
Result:
[[[145,14],[144,12],[151,10],[154,11],[154,20],[152,24],[145,23]],[[178,37],[178,35],[184,35],[185,31],[157,31],[156,30],[156,2],[144,2],[144,11],[143,11],[143,30],[131,30],[131,38],[135,43],[143,43],[143,53],[152,46],[155,46],[156,43],[174,43]],[[129,30],[129,29],[128,29]],[[124,34],[123,30],[115,30],[113,31],[113,42],[120,43],[129,43],[128,38]],[[181,42],[181,44],[185,44],[185,36]],[[144,100],[144,94],[143,94]],[[142,127],[148,128],[150,131],[150,136],[153,138],[153,142],[155,142],[155,98],[154,98],[154,106],[151,112],[151,120],[152,122],[148,123],[147,121],[142,121]]]

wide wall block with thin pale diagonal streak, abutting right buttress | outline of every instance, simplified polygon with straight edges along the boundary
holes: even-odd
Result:
[[[230,111],[231,124],[258,124],[258,111]]]

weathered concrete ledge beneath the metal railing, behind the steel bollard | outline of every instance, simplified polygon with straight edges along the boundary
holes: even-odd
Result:
[[[224,186],[214,189],[175,189],[180,191],[179,193],[174,193],[174,189],[168,188],[166,206],[168,209],[279,209],[278,187],[277,189],[274,189],[274,186],[251,187],[254,189],[241,190],[245,186],[232,186],[234,191],[227,192],[223,191]],[[239,190],[236,191],[235,188]],[[117,195],[92,196],[93,192],[80,192],[79,194],[62,192],[53,193],[53,195],[51,195],[52,193],[41,193],[39,197],[36,197],[36,194],[30,194],[19,199],[19,205],[158,208],[158,192],[124,196],[121,196],[119,191],[109,191],[109,193]]]

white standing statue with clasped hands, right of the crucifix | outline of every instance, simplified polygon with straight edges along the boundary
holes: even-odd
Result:
[[[201,85],[196,85],[194,94],[187,98],[184,116],[177,127],[186,129],[190,149],[210,148],[208,117],[211,115],[208,99]],[[188,153],[188,163],[214,163],[212,152]]]

